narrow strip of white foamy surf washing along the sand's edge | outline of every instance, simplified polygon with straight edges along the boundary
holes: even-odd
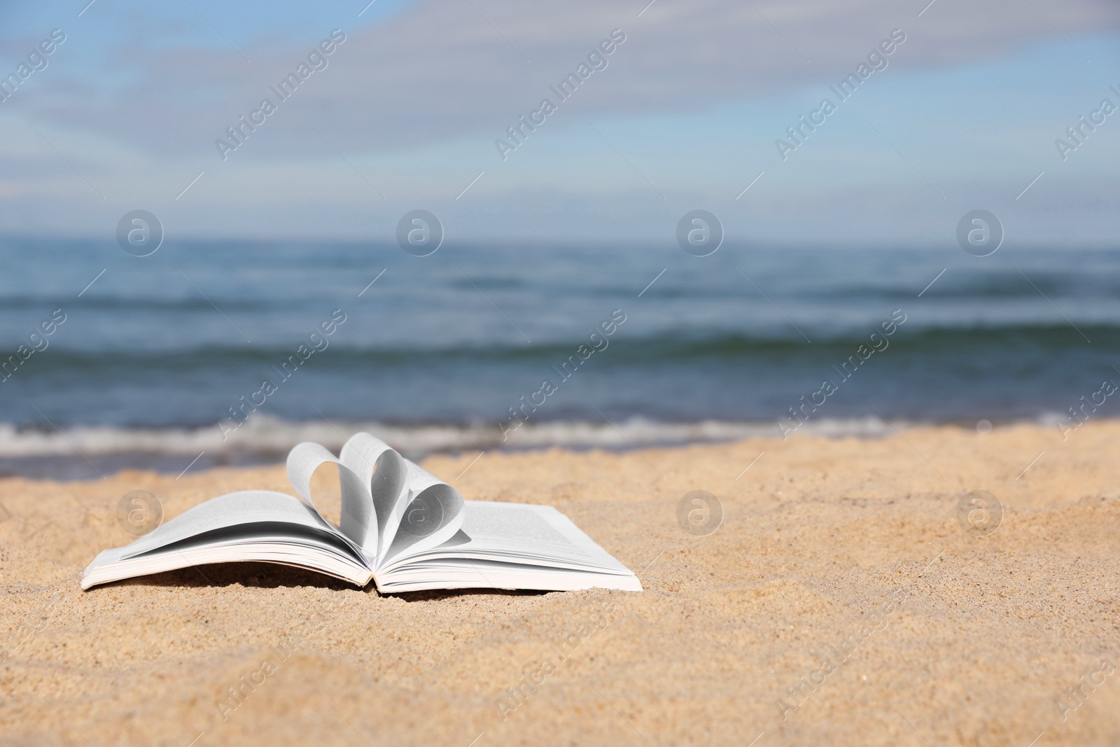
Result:
[[[878,415],[864,418],[810,419],[783,431],[774,421],[655,421],[631,418],[622,421],[544,421],[523,423],[500,432],[501,423],[327,423],[287,422],[261,418],[239,438],[217,439],[217,426],[202,428],[115,428],[77,426],[62,432],[16,430],[0,423],[0,479],[58,479],[72,482],[114,475],[128,469],[180,475],[222,467],[262,467],[283,464],[288,451],[301,441],[315,441],[337,451],[351,435],[367,431],[393,446],[410,459],[432,456],[476,456],[486,452],[539,452],[552,448],[576,452],[601,449],[624,454],[637,448],[688,448],[717,446],[745,439],[824,437],[828,439],[880,439],[897,430],[950,428],[984,436],[992,428],[1051,427],[1068,435],[1077,427],[1063,426],[1060,415],[977,422],[933,422]],[[1120,422],[1093,417],[1090,421]],[[493,427],[491,427],[493,426]],[[213,432],[212,432],[213,431]]]

